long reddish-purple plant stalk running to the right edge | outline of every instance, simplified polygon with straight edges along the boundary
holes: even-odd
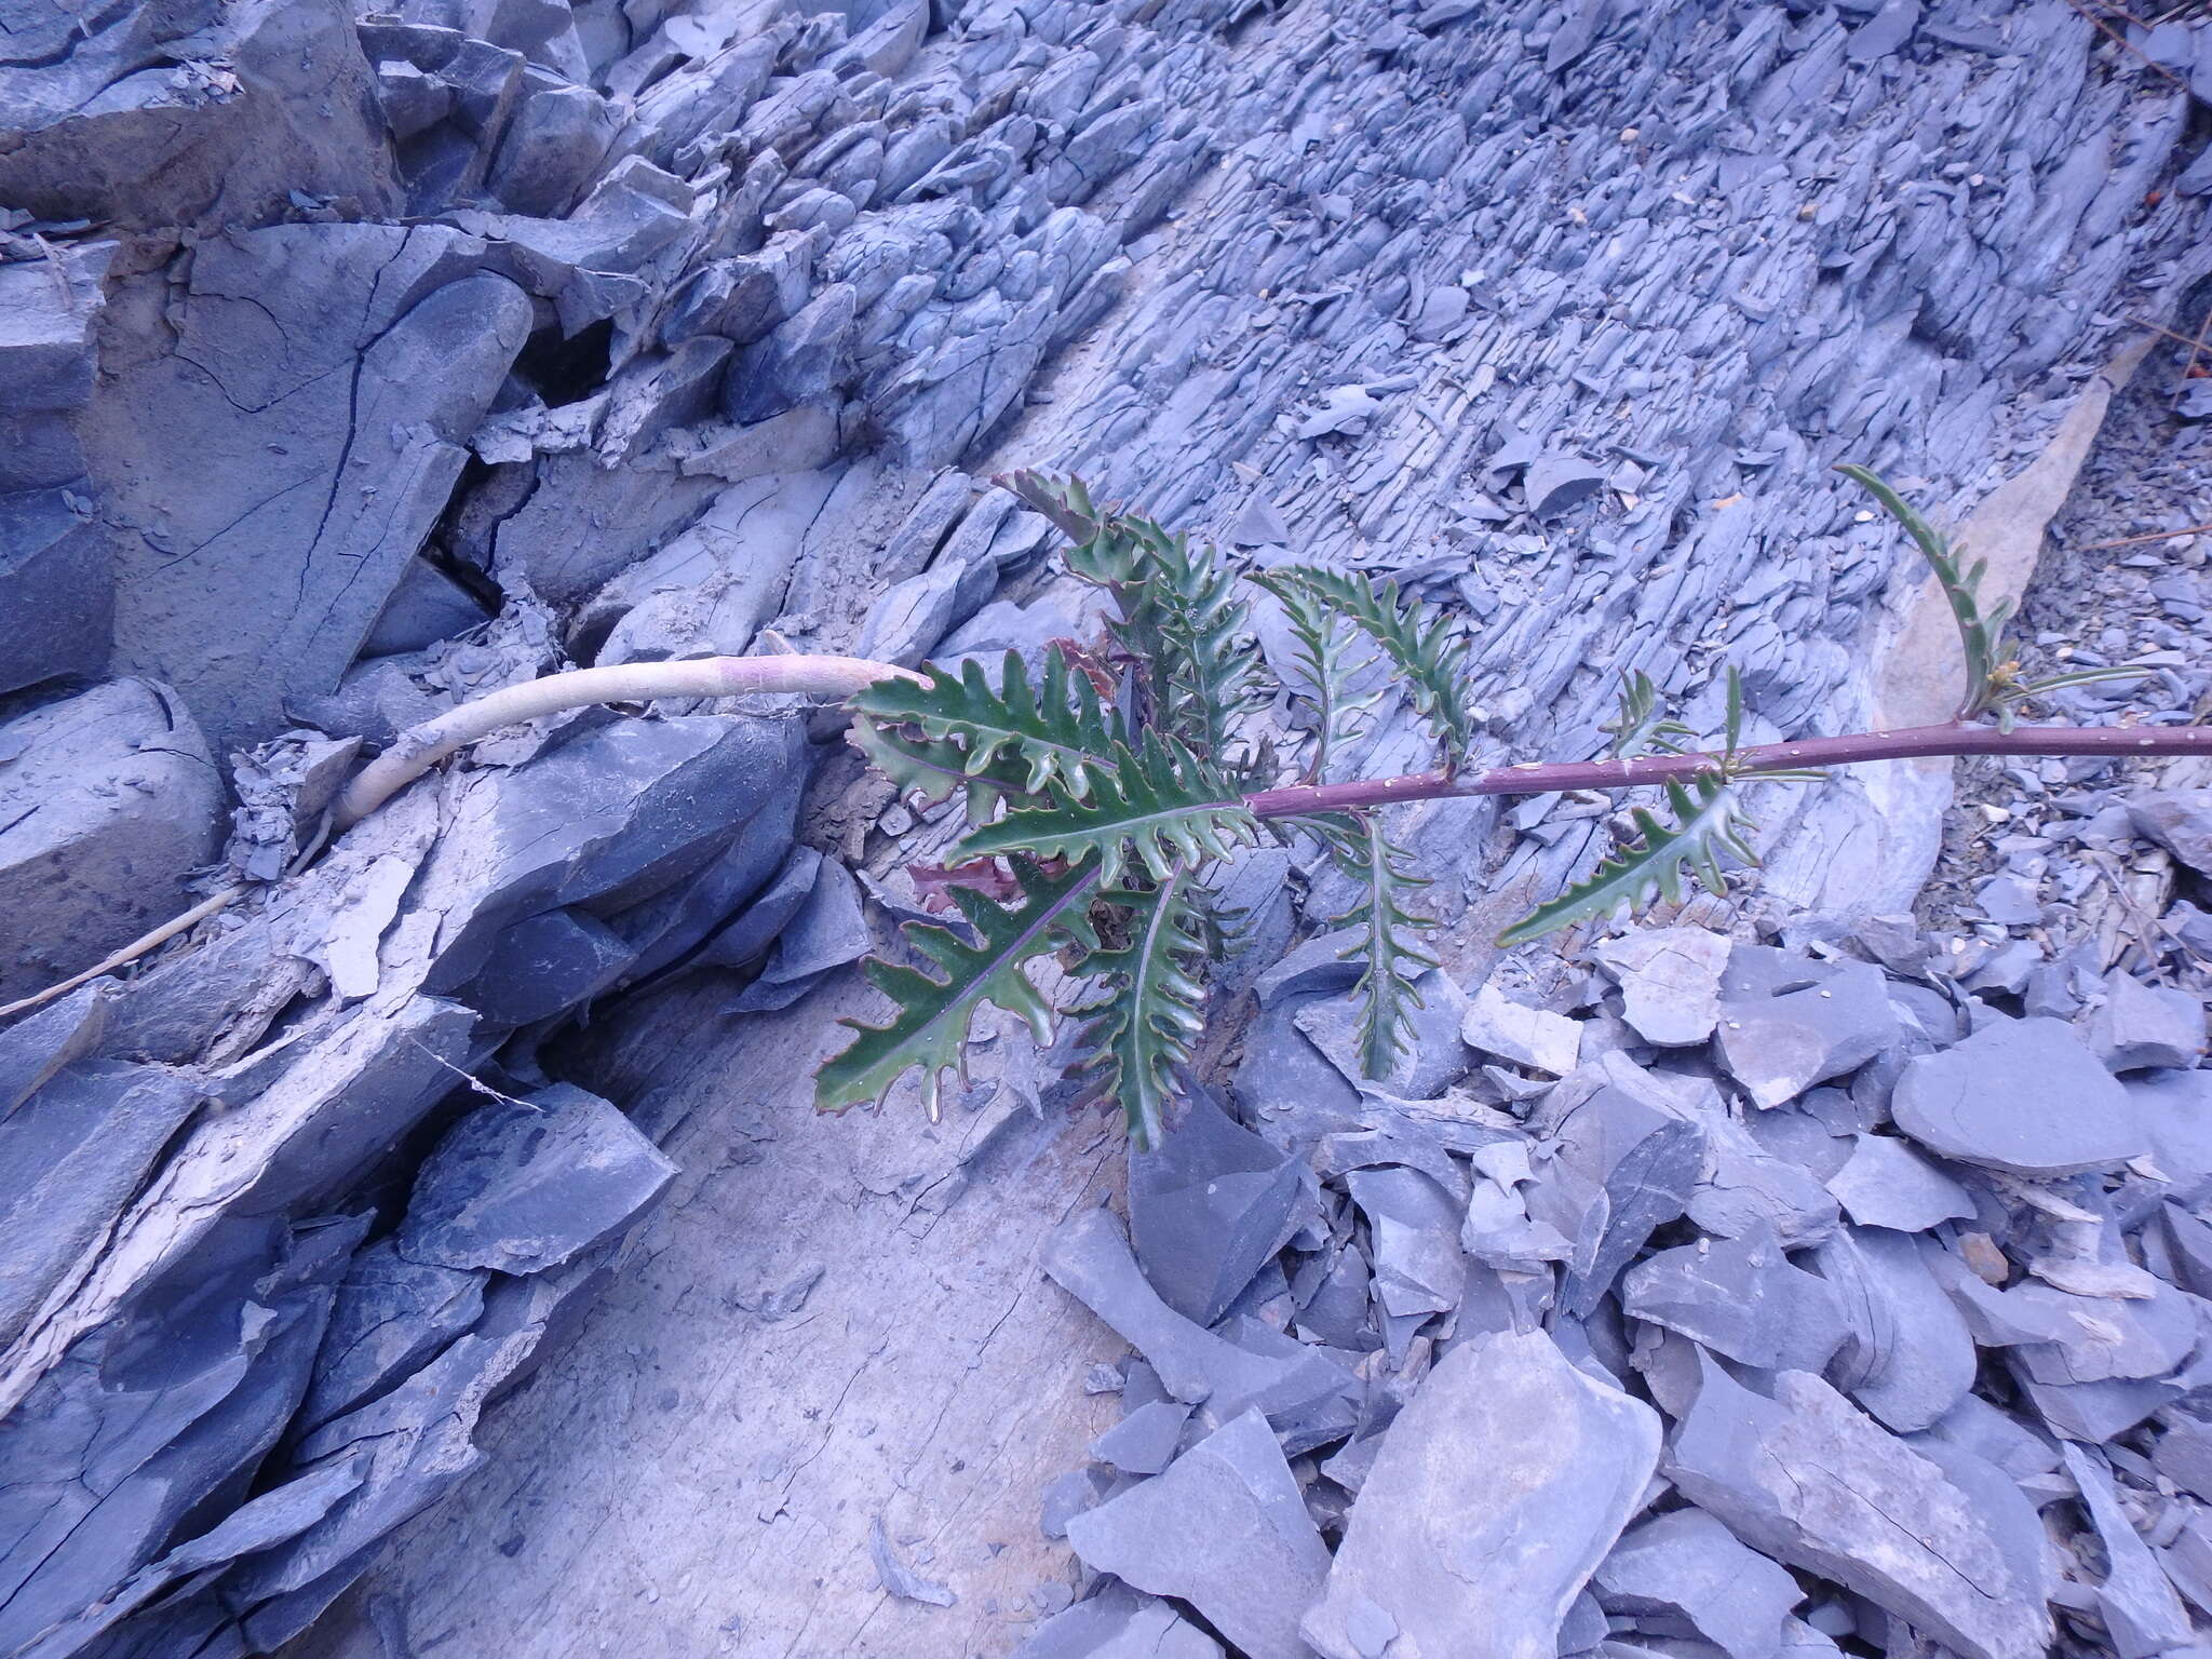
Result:
[[[2128,754],[2212,754],[2212,726],[1995,726],[1951,721],[1947,726],[1909,726],[1896,732],[1851,732],[1847,737],[1805,737],[1796,743],[1761,743],[1736,750],[1734,772],[1783,772],[1863,761],[1911,761],[1938,754],[2093,754],[2124,759]],[[1298,812],[1332,812],[1345,807],[1378,807],[1391,801],[1436,801],[1458,794],[1559,794],[1562,790],[1628,790],[1639,783],[1688,779],[1721,770],[1721,754],[1646,754],[1635,761],[1528,761],[1493,772],[1409,772],[1396,779],[1363,779],[1358,783],[1303,783],[1287,790],[1259,790],[1243,803],[1261,818],[1285,818]]]

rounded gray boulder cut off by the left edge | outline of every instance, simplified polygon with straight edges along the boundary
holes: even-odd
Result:
[[[117,679],[0,726],[0,998],[188,909],[221,805],[208,743],[164,686]]]

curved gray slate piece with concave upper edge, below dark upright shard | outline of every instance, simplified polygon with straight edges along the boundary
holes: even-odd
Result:
[[[1042,1265],[1159,1371],[1170,1396],[1203,1402],[1221,1420],[1252,1407],[1290,1413],[1345,1385],[1343,1369],[1321,1352],[1298,1360],[1267,1358],[1177,1314],[1137,1267],[1106,1210],[1084,1210],[1057,1228]]]

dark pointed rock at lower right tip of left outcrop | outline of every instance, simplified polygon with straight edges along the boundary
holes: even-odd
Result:
[[[615,1106],[553,1084],[478,1106],[438,1141],[398,1248],[442,1267],[544,1272],[619,1232],[675,1175]]]

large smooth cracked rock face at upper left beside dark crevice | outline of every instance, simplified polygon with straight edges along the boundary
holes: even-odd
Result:
[[[445,511],[531,330],[471,250],[442,226],[232,230],[192,250],[177,327],[102,365],[86,445],[119,531],[115,661],[177,686],[217,750],[338,686]],[[170,276],[131,281],[159,303]],[[272,595],[272,568],[296,580]]]

